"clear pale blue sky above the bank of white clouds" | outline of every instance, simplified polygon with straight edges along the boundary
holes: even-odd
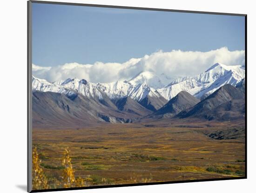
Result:
[[[33,63],[123,63],[155,51],[244,50],[244,17],[33,3]]]

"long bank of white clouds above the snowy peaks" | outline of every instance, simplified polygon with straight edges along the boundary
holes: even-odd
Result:
[[[54,67],[41,67],[33,64],[33,74],[50,82],[67,78],[84,78],[90,82],[114,82],[129,80],[141,71],[153,71],[168,77],[193,76],[206,71],[215,63],[226,65],[244,64],[244,51],[229,51],[227,47],[217,50],[157,51],[142,58],[131,58],[125,63],[78,64],[68,63]]]

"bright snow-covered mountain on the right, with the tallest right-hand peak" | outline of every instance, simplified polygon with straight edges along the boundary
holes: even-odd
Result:
[[[157,91],[167,100],[182,90],[188,91],[197,98],[204,98],[224,84],[236,85],[244,77],[245,70],[241,65],[227,66],[216,63],[201,74],[194,77],[178,78]]]

